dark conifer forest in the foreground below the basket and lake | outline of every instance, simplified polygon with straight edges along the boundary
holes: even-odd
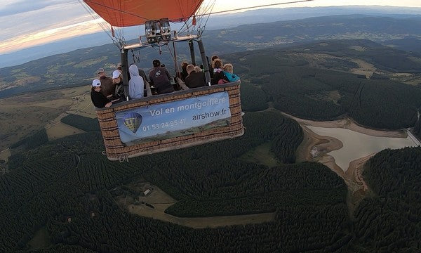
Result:
[[[368,197],[349,216],[344,181],[323,164],[293,163],[300,126],[279,112],[247,112],[235,140],[109,162],[99,131],[21,153],[0,176],[6,252],[419,252],[421,148],[384,150],[366,165]],[[261,124],[265,122],[265,124]],[[241,156],[267,142],[279,164]],[[15,158],[11,157],[11,160]],[[178,202],[177,216],[274,212],[273,222],[193,229],[129,214],[112,190],[140,178]],[[29,242],[47,231],[48,247]],[[192,247],[194,245],[194,247]]]

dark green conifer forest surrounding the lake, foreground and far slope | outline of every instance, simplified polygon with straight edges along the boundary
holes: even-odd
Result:
[[[341,45],[330,47],[338,57]],[[96,119],[68,115],[62,122],[87,133],[48,142],[44,130],[17,143],[25,148],[0,175],[0,252],[421,252],[420,147],[383,150],[369,160],[369,195],[350,213],[338,175],[295,161],[304,134],[281,114],[352,117],[380,129],[415,126],[420,135],[421,89],[349,74],[349,60],[323,63],[337,70],[318,69],[281,50],[236,53],[225,62],[244,80],[246,131],[239,138],[110,162]],[[274,166],[244,158],[262,146]],[[176,200],[166,214],[272,213],[274,220],[194,229],[131,214],[115,191],[139,180]],[[39,234],[45,247],[32,246]]]

